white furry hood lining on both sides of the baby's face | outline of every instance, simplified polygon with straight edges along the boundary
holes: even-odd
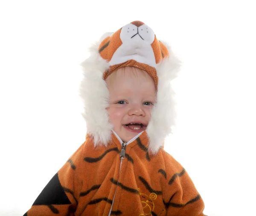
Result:
[[[104,71],[110,65],[100,57],[99,44],[90,47],[90,57],[81,63],[84,71],[84,79],[80,86],[80,96],[84,101],[83,117],[87,123],[87,133],[94,138],[94,146],[107,145],[111,141],[113,129],[106,110],[109,91],[105,80],[102,79]],[[166,136],[172,133],[172,126],[175,124],[175,93],[170,82],[177,77],[180,61],[174,56],[169,45],[164,45],[169,51],[169,57],[156,66],[159,79],[157,103],[152,109],[151,120],[146,129],[149,151],[153,154],[163,145]]]

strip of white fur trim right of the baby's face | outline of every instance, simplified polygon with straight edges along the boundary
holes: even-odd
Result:
[[[163,43],[163,41],[162,41]],[[163,145],[167,135],[172,133],[172,126],[175,125],[175,93],[171,86],[171,81],[177,77],[180,68],[178,60],[170,46],[164,43],[169,51],[169,57],[157,64],[156,71],[158,76],[157,102],[151,113],[146,132],[149,138],[149,151],[157,153]]]

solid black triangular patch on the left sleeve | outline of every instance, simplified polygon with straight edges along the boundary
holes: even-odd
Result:
[[[71,204],[66,193],[61,187],[61,183],[56,173],[44,190],[39,194],[33,205],[65,205]],[[26,215],[25,215],[26,216]]]

